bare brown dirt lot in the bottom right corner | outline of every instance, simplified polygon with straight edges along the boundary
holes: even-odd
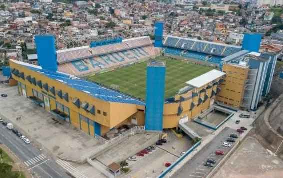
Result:
[[[270,155],[255,138],[248,137],[213,177],[281,178],[283,161]]]

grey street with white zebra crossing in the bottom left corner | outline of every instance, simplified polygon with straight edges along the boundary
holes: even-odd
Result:
[[[26,144],[2,123],[0,123],[0,142],[5,144],[28,170],[33,170],[41,178],[69,177],[55,162],[52,162],[32,144]]]

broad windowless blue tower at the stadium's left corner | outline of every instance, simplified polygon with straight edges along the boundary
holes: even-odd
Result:
[[[35,36],[38,64],[42,69],[57,71],[55,37],[53,35]]]

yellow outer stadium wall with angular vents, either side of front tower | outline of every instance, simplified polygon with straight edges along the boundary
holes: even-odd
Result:
[[[40,80],[42,84],[48,83],[49,88],[54,86],[55,91],[62,90],[62,93],[68,93],[69,101],[66,101],[64,98],[61,99],[57,94],[53,95],[51,91],[48,92],[44,88],[40,88],[37,84],[35,85],[27,79],[22,79],[13,74],[13,78],[18,82],[18,89],[21,95],[29,99],[31,99],[30,96],[37,97],[42,100],[40,105],[51,113],[54,113],[56,110],[65,113],[68,116],[65,121],[91,136],[94,136],[94,134],[102,135],[110,129],[126,122],[132,122],[140,126],[144,126],[145,124],[145,106],[99,100],[90,97],[85,92],[69,87],[60,81],[50,79],[42,73],[30,70],[12,61],[10,61],[10,67],[19,70],[20,73],[23,72],[25,78],[26,76],[34,77],[36,81]],[[217,78],[216,81],[219,79]],[[208,88],[209,86],[211,87]],[[214,96],[211,97],[211,94],[212,91],[216,92],[217,87],[218,85],[213,86],[213,83],[208,83],[201,88],[193,88],[188,93],[176,95],[175,102],[173,103],[165,103],[163,128],[177,127],[179,119],[182,116],[187,115],[189,119],[192,119],[208,109],[214,103]],[[199,98],[204,100],[205,95],[208,96],[207,100],[199,103]],[[79,98],[80,104],[87,102],[89,105],[95,106],[95,114],[93,115],[81,107],[78,108],[73,103],[75,98]],[[191,109],[192,103],[194,103],[194,107]],[[179,106],[182,107],[183,111],[178,115]]]

